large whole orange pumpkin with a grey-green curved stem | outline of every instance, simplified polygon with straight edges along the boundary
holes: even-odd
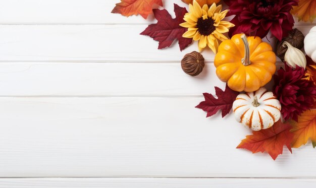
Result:
[[[276,72],[276,55],[260,37],[236,34],[221,43],[214,59],[216,74],[235,91],[265,86]]]

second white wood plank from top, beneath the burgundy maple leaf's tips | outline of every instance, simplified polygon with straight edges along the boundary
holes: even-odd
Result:
[[[142,25],[0,26],[0,61],[128,61],[179,62],[184,54],[197,50],[194,43],[180,51],[158,50],[158,42],[139,35]],[[306,34],[312,25],[300,26]],[[267,40],[267,39],[265,39]],[[274,46],[274,42],[272,41]],[[203,51],[207,62],[214,53]]]

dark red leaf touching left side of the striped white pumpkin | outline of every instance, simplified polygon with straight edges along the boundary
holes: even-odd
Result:
[[[212,94],[203,93],[205,101],[200,102],[195,107],[206,111],[206,117],[216,114],[219,110],[222,110],[222,117],[225,117],[232,109],[233,102],[239,92],[230,89],[227,84],[225,91],[215,87],[215,92],[218,98],[215,98]]]

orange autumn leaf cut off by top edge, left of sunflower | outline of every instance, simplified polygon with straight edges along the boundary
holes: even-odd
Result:
[[[121,3],[116,4],[111,13],[119,13],[129,17],[140,14],[144,19],[152,13],[152,6],[157,4],[163,6],[162,0],[121,0]]]

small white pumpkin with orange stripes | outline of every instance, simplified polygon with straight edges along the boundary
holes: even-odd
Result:
[[[233,103],[235,119],[253,131],[268,129],[281,117],[281,104],[272,92],[261,87],[239,94]]]

